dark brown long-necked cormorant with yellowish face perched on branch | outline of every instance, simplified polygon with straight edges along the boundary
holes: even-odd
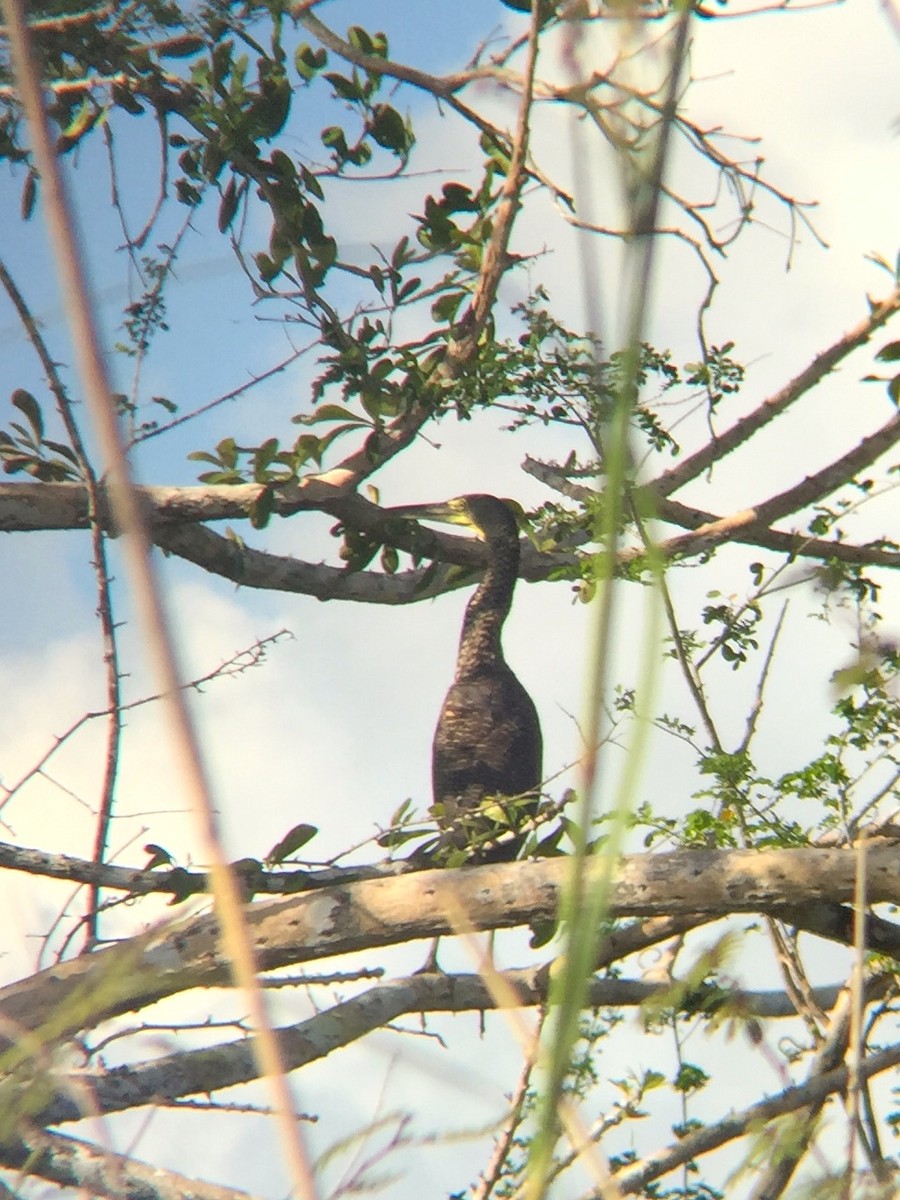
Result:
[[[540,803],[540,720],[500,641],[518,578],[514,504],[474,494],[389,510],[464,526],[487,546],[487,568],[466,606],[454,682],[432,743],[431,811],[442,830],[437,857],[445,859],[514,859],[524,842],[521,827]]]

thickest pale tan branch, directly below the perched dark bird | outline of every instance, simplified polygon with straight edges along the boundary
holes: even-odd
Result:
[[[247,924],[263,971],[451,934],[460,910],[475,929],[508,929],[556,916],[568,866],[548,859],[365,880],[253,904]],[[896,904],[896,848],[872,848],[866,866],[870,901]],[[601,872],[602,862],[590,870]],[[608,914],[721,917],[839,905],[852,899],[854,872],[854,856],[840,850],[635,854],[619,865]],[[191,917],[4,988],[0,1016],[7,1028],[23,1030],[53,1016],[62,1037],[164,996],[228,982],[215,919]]]

